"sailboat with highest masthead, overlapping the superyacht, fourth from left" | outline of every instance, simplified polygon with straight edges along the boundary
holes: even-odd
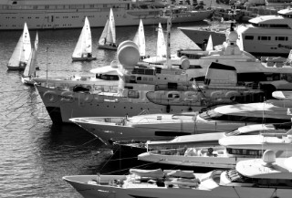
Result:
[[[110,8],[110,17],[99,38],[99,48],[117,50],[116,44],[116,25],[112,9]]]

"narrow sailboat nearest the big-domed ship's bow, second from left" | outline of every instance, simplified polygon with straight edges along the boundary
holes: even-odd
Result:
[[[26,69],[21,77],[21,81],[26,85],[34,85],[33,78],[36,77],[36,51],[38,47],[38,34],[36,32],[35,45],[31,49],[31,53],[26,65]]]

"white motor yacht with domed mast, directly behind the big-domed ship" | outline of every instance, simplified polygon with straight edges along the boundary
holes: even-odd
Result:
[[[233,26],[225,39],[223,45],[216,46],[213,50],[212,47],[206,51],[179,50],[178,56],[171,57],[172,65],[183,68],[182,60],[188,57],[189,67],[186,73],[192,75],[196,82],[203,82],[207,69],[213,62],[235,67],[238,82],[245,85],[257,83],[265,91],[266,98],[270,98],[276,89],[291,89],[292,67],[271,65],[271,62],[262,62],[246,52],[242,35],[238,34]],[[158,64],[166,62],[166,58],[162,58],[157,62]]]

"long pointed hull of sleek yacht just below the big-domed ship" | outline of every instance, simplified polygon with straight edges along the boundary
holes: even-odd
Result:
[[[175,136],[232,131],[248,124],[231,121],[200,122],[192,120],[192,117],[188,120],[187,118],[186,120],[184,118],[183,120],[163,120],[163,118],[162,120],[160,118],[152,120],[147,116],[137,118],[132,122],[126,121],[125,124],[118,120],[116,122],[105,121],[110,119],[115,118],[76,118],[71,121],[104,141],[111,139],[115,141],[170,140]],[[129,125],[127,126],[127,124]]]

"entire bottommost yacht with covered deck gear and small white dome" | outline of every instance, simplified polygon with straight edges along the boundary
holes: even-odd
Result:
[[[235,169],[206,173],[130,170],[130,175],[64,176],[85,198],[238,198],[291,196],[291,158],[265,151],[262,159],[237,162]]]

